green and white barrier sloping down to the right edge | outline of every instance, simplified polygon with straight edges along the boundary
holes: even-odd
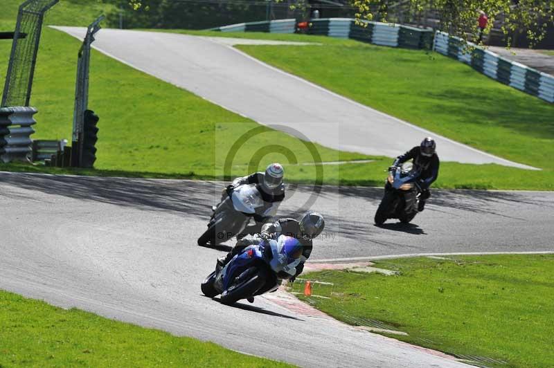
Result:
[[[462,39],[440,31],[435,34],[433,47],[436,52],[469,64],[476,71],[494,80],[542,100],[554,102],[553,75],[512,62],[481,46],[472,43],[464,44]]]

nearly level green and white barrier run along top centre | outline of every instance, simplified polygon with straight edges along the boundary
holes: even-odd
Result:
[[[363,21],[363,23],[366,26],[357,24],[355,19],[351,18],[311,19],[306,33],[308,35],[351,38],[370,44],[402,48],[431,48],[433,44],[434,33],[431,29],[376,21]],[[294,19],[256,21],[211,28],[211,30],[221,32],[294,33],[296,21]]]

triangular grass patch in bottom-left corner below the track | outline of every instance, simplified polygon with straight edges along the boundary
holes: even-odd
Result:
[[[0,291],[0,367],[289,367]]]

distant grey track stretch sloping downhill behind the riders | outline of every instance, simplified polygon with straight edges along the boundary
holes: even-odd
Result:
[[[86,33],[85,28],[55,28],[80,39]],[[278,125],[276,129],[302,134],[327,147],[395,157],[406,147],[418,145],[424,136],[434,136],[441,160],[530,168],[438,136],[284,73],[233,48],[229,39],[102,29],[93,47],[242,116]]]

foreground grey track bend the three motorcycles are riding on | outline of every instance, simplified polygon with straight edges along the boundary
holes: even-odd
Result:
[[[200,248],[222,183],[0,173],[0,288],[307,367],[461,363],[269,297],[223,306],[199,284],[222,250]],[[292,192],[292,191],[291,191]],[[280,214],[311,194],[297,188]],[[312,258],[554,250],[554,193],[434,191],[415,225],[371,219],[379,188],[324,187]],[[311,258],[311,259],[312,259]]]

